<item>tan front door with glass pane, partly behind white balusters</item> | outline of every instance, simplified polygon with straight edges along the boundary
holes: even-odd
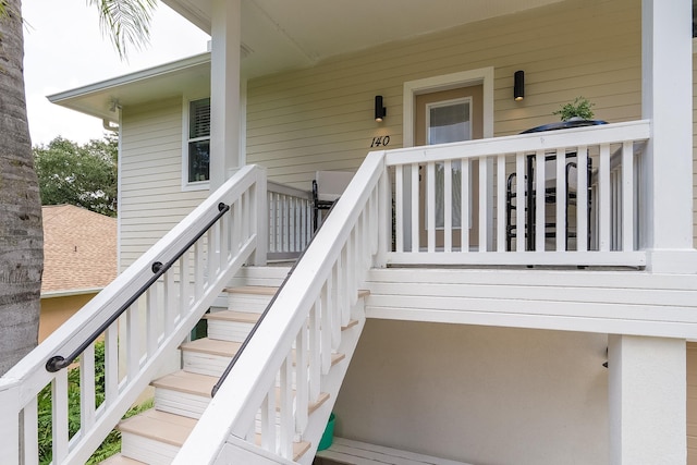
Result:
[[[470,140],[484,137],[484,90],[481,85],[458,87],[449,90],[421,94],[416,96],[416,111],[414,121],[414,135],[416,145],[435,145],[453,142]],[[419,243],[427,243],[426,231],[426,173],[424,168],[419,176]],[[469,206],[470,218],[461,217],[460,198],[461,192],[461,169],[460,162],[452,163],[453,179],[453,201],[452,222],[453,231],[452,244],[455,248],[463,247],[460,242],[460,228],[469,228],[470,232],[478,231],[478,180],[479,167],[477,162],[470,164],[469,183],[470,193]],[[443,247],[443,164],[436,167],[436,247]],[[477,235],[469,234],[469,244],[465,247],[477,246]]]

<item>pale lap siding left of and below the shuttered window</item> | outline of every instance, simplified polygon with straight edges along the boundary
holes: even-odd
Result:
[[[182,192],[182,99],[122,110],[121,269],[192,211],[208,191]]]

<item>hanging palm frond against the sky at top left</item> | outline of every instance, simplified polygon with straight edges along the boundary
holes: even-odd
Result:
[[[3,1],[3,0],[0,0]],[[88,0],[99,11],[99,27],[123,60],[131,47],[142,49],[150,38],[157,0]]]

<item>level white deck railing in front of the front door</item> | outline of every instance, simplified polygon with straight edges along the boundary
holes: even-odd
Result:
[[[390,150],[392,265],[641,267],[649,122]]]

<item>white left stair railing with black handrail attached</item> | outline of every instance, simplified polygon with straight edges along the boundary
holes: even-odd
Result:
[[[38,463],[37,395],[46,386],[54,405],[52,463],[85,463],[237,269],[266,257],[266,218],[258,213],[265,209],[266,172],[244,167],[0,378],[0,463]],[[105,344],[100,405],[93,339]],[[71,367],[81,370],[81,429],[74,432],[68,427],[70,369],[46,365],[76,354]]]

